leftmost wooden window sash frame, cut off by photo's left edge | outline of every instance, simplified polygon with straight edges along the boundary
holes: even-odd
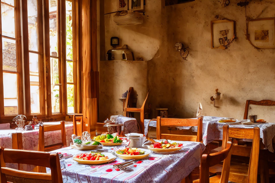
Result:
[[[22,50],[21,50],[21,14],[20,14],[20,1],[15,0],[14,6],[9,5],[7,3],[1,2],[7,6],[14,8],[15,14],[15,38],[8,37],[2,35],[2,17],[0,18],[0,81],[2,84],[0,85],[0,119],[1,121],[10,121],[18,114],[23,114],[23,74],[22,74]],[[2,16],[2,12],[0,9],[0,15]],[[7,39],[13,39],[16,41],[16,62],[17,62],[17,71],[3,71],[3,53],[2,53],[2,37]],[[15,115],[5,115],[4,108],[4,86],[3,86],[3,72],[5,73],[16,73],[17,74],[17,106],[18,106],[18,114]]]

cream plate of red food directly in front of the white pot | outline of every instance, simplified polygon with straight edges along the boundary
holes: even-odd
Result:
[[[148,149],[142,149],[142,148],[123,148],[118,149],[115,151],[115,155],[123,160],[141,160],[143,158],[146,158],[151,153]]]

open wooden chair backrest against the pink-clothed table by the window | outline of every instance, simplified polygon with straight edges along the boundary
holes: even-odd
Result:
[[[52,132],[56,130],[61,130],[62,143],[53,144],[45,146],[44,132]],[[53,151],[67,146],[66,142],[66,132],[65,132],[65,122],[61,121],[58,125],[47,125],[39,127],[39,138],[38,138],[38,151]]]

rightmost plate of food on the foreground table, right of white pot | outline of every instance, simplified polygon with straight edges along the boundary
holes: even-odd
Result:
[[[167,140],[155,142],[154,144],[148,147],[149,150],[154,151],[156,153],[174,152],[180,150],[181,148],[182,144],[176,142],[169,143]]]

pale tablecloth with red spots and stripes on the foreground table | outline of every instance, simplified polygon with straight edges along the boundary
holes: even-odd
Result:
[[[180,142],[180,141],[178,141]],[[109,164],[83,165],[72,158],[63,159],[60,162],[64,183],[134,183],[134,182],[158,182],[177,183],[188,176],[195,167],[200,165],[202,152],[205,146],[199,142],[181,142],[183,148],[180,151],[164,154],[152,153],[143,160],[135,161],[129,171],[115,170],[113,164],[125,162],[116,158]],[[112,152],[119,147],[103,146],[97,152]],[[144,147],[146,148],[146,147]],[[79,154],[89,151],[62,148],[54,152],[67,154]],[[49,172],[49,170],[48,170]]]

